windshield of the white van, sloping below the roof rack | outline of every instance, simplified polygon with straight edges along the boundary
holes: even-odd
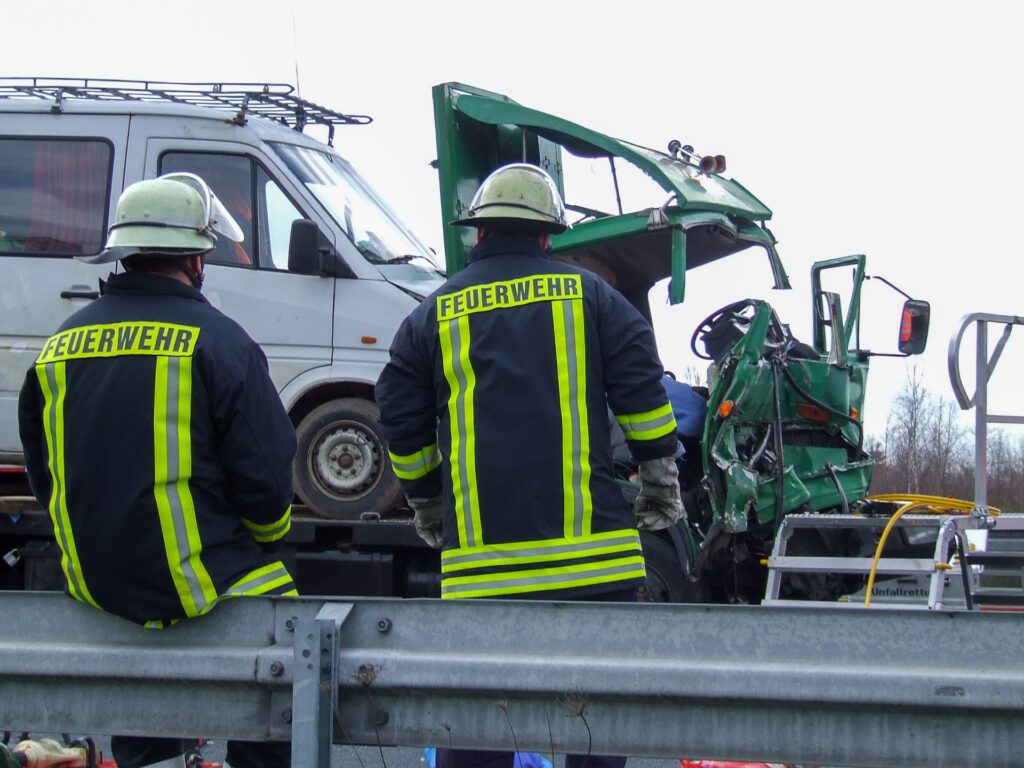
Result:
[[[436,257],[398,220],[352,165],[337,155],[273,142],[274,152],[328,210],[372,264],[417,263],[437,270]]]

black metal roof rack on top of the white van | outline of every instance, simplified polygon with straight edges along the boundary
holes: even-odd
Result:
[[[65,96],[99,101],[146,101],[194,104],[233,112],[231,122],[245,125],[259,115],[301,131],[307,125],[328,126],[328,143],[336,125],[366,125],[367,115],[345,115],[295,95],[288,83],[170,83],[159,80],[96,78],[0,77],[0,98],[51,98],[60,112]]]

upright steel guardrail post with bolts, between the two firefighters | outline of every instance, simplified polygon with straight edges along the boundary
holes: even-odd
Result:
[[[292,687],[292,765],[329,768],[338,690],[338,630],[351,603],[326,603],[315,618],[296,620]]]

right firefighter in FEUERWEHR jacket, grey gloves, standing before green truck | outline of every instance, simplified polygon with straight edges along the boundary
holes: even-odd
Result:
[[[376,390],[417,529],[441,549],[441,596],[635,600],[637,528],[682,514],[653,333],[600,278],[548,258],[566,224],[540,168],[498,169],[454,223],[477,227],[478,245],[404,321]],[[640,464],[633,514],[612,475],[609,406]],[[439,750],[438,762],[512,757]]]

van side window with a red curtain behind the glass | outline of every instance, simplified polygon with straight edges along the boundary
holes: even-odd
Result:
[[[102,139],[0,138],[0,254],[99,253],[111,161]]]

